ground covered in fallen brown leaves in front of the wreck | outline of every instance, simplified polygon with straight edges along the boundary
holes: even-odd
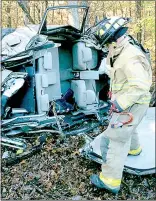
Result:
[[[154,175],[123,175],[121,190],[113,195],[90,183],[100,165],[79,155],[82,136],[65,143],[50,139],[45,149],[17,165],[2,167],[2,199],[14,200],[155,200]]]

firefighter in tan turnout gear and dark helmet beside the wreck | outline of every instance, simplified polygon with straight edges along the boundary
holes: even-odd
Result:
[[[130,21],[128,18],[105,18],[95,27],[94,33],[101,45],[108,45],[107,64],[110,66],[110,90],[112,93],[112,118],[101,138],[102,171],[91,176],[91,183],[101,189],[118,193],[128,154],[136,156],[141,153],[137,126],[144,117],[151,99],[149,93],[152,84],[151,65],[138,45],[127,34]],[[94,30],[94,31],[95,31]],[[112,128],[116,119],[127,121],[130,112],[133,121],[121,127]]]

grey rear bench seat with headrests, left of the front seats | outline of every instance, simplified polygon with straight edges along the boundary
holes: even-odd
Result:
[[[45,48],[36,52],[37,113],[49,111],[49,102],[61,98],[58,48]]]

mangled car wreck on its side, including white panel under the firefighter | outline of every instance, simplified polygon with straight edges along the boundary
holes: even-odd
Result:
[[[50,12],[54,16],[55,11],[73,8],[81,15],[83,10],[80,27],[47,25]],[[49,7],[39,26],[2,32],[1,144],[12,150],[4,152],[4,158],[16,155],[20,160],[40,150],[48,135],[83,134],[86,144],[81,154],[102,163],[101,135],[93,139],[87,133],[109,122],[107,49],[91,34],[94,26],[85,28],[87,13],[86,6]],[[154,172],[153,123],[154,108],[150,108],[138,128],[143,152],[127,157],[125,171]],[[38,137],[38,144],[31,136]],[[16,150],[18,155],[13,155]]]

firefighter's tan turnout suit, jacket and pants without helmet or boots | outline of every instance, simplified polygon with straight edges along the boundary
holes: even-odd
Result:
[[[110,46],[107,64],[110,65],[111,90],[113,103],[119,111],[130,112],[133,121],[119,128],[111,128],[116,119],[127,121],[126,115],[113,113],[108,128],[101,138],[101,155],[103,158],[102,175],[119,181],[128,152],[136,154],[141,151],[136,128],[144,117],[151,95],[151,66],[144,53],[131,45],[128,37]],[[135,151],[134,151],[135,150]],[[105,181],[106,183],[106,181]]]

